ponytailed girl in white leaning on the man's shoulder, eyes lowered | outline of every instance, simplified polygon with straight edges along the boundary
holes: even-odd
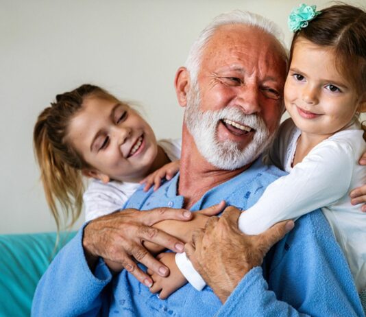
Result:
[[[34,148],[58,228],[79,218],[83,194],[86,220],[92,220],[121,209],[139,182],[158,187],[179,169],[179,140],[157,143],[136,110],[90,84],[57,95],[42,111]],[[93,178],[85,193],[83,176]]]

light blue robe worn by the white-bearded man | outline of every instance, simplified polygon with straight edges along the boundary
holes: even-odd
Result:
[[[208,191],[193,210],[225,199],[247,209],[280,172],[258,161],[246,172]],[[127,207],[182,206],[178,176],[155,193],[136,192]],[[210,287],[186,284],[160,300],[131,274],[112,277],[100,260],[90,272],[82,249],[83,230],[59,253],[38,284],[33,316],[364,316],[343,253],[321,211],[297,220],[225,302]],[[215,259],[213,259],[215,260]]]

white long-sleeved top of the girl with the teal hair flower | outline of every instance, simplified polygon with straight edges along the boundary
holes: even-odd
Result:
[[[301,163],[291,167],[300,134],[291,119],[280,126],[267,157],[290,174],[271,183],[258,202],[241,213],[239,228],[243,233],[254,235],[276,222],[296,220],[323,207],[321,210],[345,253],[358,292],[361,292],[366,288],[366,213],[361,212],[361,204],[352,206],[348,195],[351,189],[366,183],[366,169],[358,165],[358,159],[366,151],[363,130],[360,123],[354,121],[316,145]],[[183,255],[179,258],[184,261]],[[202,288],[202,278],[192,277],[190,272],[188,281]]]

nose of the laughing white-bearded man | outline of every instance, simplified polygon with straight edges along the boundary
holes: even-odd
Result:
[[[259,101],[259,88],[256,85],[243,85],[239,89],[239,93],[236,95],[236,105],[243,108],[246,115],[252,115],[253,113],[259,113],[260,101]]]

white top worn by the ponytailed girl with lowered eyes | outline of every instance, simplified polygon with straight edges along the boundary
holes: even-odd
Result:
[[[158,145],[161,146],[171,161],[180,159],[181,139],[160,140]],[[85,220],[90,221],[121,209],[128,198],[140,186],[139,183],[118,182],[115,180],[104,184],[93,178],[83,195]]]

